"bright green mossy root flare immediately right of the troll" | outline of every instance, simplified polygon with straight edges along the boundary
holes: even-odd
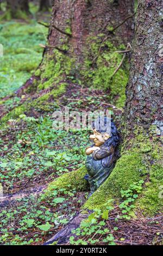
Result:
[[[125,153],[117,161],[114,171],[104,184],[86,201],[86,209],[104,209],[108,200],[121,198],[121,190],[127,190],[130,184],[145,179],[146,166],[142,155],[138,153]]]

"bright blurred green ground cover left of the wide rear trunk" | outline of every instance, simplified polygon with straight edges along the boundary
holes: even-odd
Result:
[[[35,20],[1,22],[0,98],[10,95],[30,78],[41,62],[48,29]]]

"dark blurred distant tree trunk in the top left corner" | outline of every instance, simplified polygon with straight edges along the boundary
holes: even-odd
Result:
[[[29,3],[28,0],[7,0],[7,10],[10,11],[11,17],[21,16],[20,13],[29,14]]]

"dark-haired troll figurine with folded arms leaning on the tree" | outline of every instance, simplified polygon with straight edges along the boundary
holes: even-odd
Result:
[[[85,149],[87,155],[85,179],[90,184],[90,194],[108,178],[115,166],[118,156],[117,146],[120,142],[120,135],[112,119],[98,117],[92,125],[93,134],[90,139],[93,141],[91,147]]]

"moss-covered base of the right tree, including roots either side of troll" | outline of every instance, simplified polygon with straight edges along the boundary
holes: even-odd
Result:
[[[121,191],[128,190],[131,184],[143,180],[142,193],[135,203],[136,209],[141,209],[147,216],[158,214],[163,209],[161,151],[158,145],[155,146],[149,141],[141,142],[139,145],[135,144],[132,149],[124,151],[109,178],[85,202],[83,209],[104,210],[110,205],[111,199],[114,199],[115,203],[120,203]],[[84,180],[85,174],[86,169],[83,167],[60,176],[48,186],[46,194],[51,193],[56,187],[77,191],[89,190]]]

